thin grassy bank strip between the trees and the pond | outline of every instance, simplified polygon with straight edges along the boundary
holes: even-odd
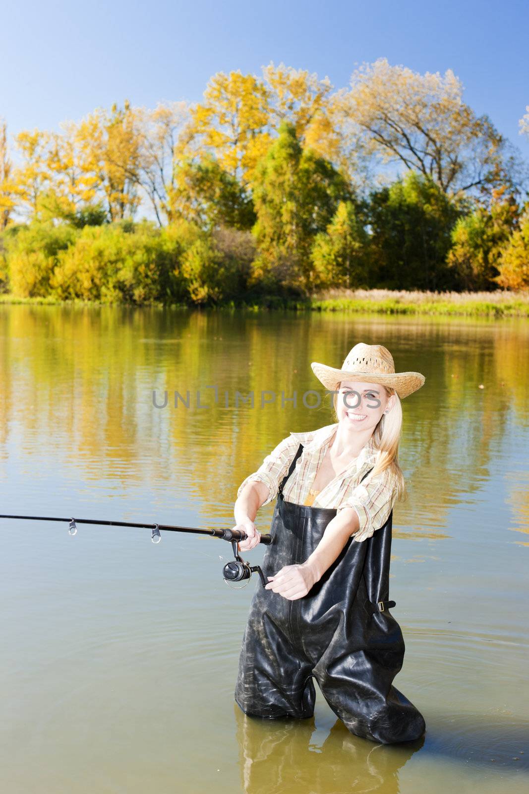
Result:
[[[0,295],[0,303],[29,303],[47,305],[102,306],[101,301],[59,301],[52,298],[17,298]],[[125,304],[121,304],[125,305]],[[148,303],[146,306],[163,306]],[[262,295],[232,299],[214,306],[186,306],[169,304],[171,308],[216,310],[249,310],[259,312],[270,309],[293,311],[346,311],[377,314],[456,314],[488,317],[529,317],[529,292],[497,290],[494,292],[421,292],[398,290],[328,290],[309,298],[282,298]]]

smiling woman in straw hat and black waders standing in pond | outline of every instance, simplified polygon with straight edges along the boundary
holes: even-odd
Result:
[[[277,496],[259,584],[243,636],[235,698],[248,715],[311,717],[316,678],[351,733],[375,742],[420,738],[420,711],[393,687],[404,639],[389,614],[393,504],[405,495],[397,462],[401,399],[424,384],[395,372],[382,345],[362,342],[342,368],[312,363],[334,391],[337,422],[291,433],[237,491],[241,550],[255,515]]]

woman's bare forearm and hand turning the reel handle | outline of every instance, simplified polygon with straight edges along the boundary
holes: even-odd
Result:
[[[323,538],[310,557],[300,565],[285,565],[275,576],[269,576],[267,590],[284,598],[303,598],[321,579],[339,556],[351,534],[358,532],[360,521],[354,507],[345,507],[325,527]]]

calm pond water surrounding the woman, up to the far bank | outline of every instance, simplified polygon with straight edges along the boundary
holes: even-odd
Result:
[[[260,584],[224,583],[228,543],[0,519],[3,791],[527,791],[527,320],[21,305],[0,336],[2,514],[231,527],[278,441],[333,421],[311,361],[378,343],[427,379],[403,402],[389,593],[418,746],[353,736],[317,686],[312,720],[242,714]]]

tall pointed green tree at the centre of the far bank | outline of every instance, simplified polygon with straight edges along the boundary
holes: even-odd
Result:
[[[251,283],[316,287],[312,243],[327,229],[338,202],[351,198],[343,177],[328,160],[302,148],[294,126],[284,121],[256,169],[253,198],[259,253]]]

